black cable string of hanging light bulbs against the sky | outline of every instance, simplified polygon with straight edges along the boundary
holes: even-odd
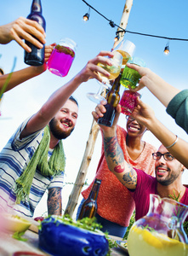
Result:
[[[157,35],[151,35],[151,34],[145,34],[145,33],[140,33],[140,32],[132,32],[132,31],[128,31],[123,29],[121,26],[118,26],[116,23],[114,23],[114,21],[109,20],[108,18],[106,18],[104,15],[102,15],[97,9],[94,9],[93,6],[91,6],[90,4],[88,4],[85,0],[82,0],[83,3],[85,3],[86,5],[88,5],[88,13],[86,13],[85,15],[83,15],[83,20],[84,21],[88,21],[89,19],[89,15],[90,15],[90,9],[93,9],[96,13],[98,13],[100,16],[102,16],[105,20],[109,21],[109,25],[111,27],[118,27],[120,30],[118,30],[116,32],[116,37],[114,38],[114,41],[117,42],[119,40],[119,33],[122,32],[128,32],[128,33],[132,33],[132,34],[136,34],[136,35],[140,35],[140,36],[146,36],[146,37],[153,37],[153,38],[163,38],[163,39],[167,39],[168,43],[166,44],[165,48],[164,48],[164,55],[168,55],[169,54],[169,42],[170,40],[176,40],[176,41],[188,41],[188,39],[185,38],[168,38],[168,37],[162,37],[162,36],[157,36]]]

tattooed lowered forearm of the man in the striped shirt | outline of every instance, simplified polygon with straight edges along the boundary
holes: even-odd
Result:
[[[62,201],[61,201],[61,188],[53,188],[48,190],[48,214],[61,215]]]

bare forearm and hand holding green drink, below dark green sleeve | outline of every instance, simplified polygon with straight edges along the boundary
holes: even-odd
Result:
[[[162,102],[167,108],[168,103],[179,93],[179,89],[165,82],[156,73],[151,72],[149,68],[139,67],[134,64],[127,63],[127,66],[133,68],[140,73],[141,79],[139,86],[134,90],[138,91],[143,87],[147,87],[151,93]]]

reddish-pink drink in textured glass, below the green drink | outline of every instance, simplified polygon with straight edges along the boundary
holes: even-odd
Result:
[[[140,93],[134,92],[132,90],[124,90],[122,98],[120,100],[120,105],[122,107],[122,113],[130,115],[134,108],[137,106],[137,97],[140,97]]]

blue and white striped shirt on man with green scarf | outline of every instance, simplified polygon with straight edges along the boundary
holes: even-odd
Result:
[[[43,138],[42,129],[20,139],[20,133],[25,128],[28,120],[26,119],[20,125],[0,153],[0,209],[5,212],[16,212],[18,215],[32,217],[38,202],[47,189],[63,187],[64,172],[56,177],[44,177],[36,170],[32,180],[29,201],[21,201],[20,204],[15,204],[15,181],[26,169]],[[50,158],[52,153],[53,150],[49,149],[48,158]]]

